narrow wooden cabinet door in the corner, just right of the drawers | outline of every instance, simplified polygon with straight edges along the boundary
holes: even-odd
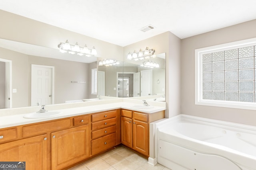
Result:
[[[121,117],[121,143],[132,148],[132,119]]]

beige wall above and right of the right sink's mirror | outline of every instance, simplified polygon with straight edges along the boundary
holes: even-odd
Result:
[[[138,51],[140,48],[153,48],[156,50],[155,54],[166,53],[165,117],[180,114],[180,45],[180,38],[168,31],[124,47],[124,61],[127,60],[129,51]]]

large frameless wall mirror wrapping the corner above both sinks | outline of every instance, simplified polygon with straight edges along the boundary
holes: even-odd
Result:
[[[165,54],[160,54],[153,59],[159,63],[159,68],[142,68],[142,61],[119,61],[113,66],[98,66],[102,60],[99,57],[68,55],[58,49],[0,39],[0,108],[82,102],[83,99],[96,99],[97,95],[135,97],[164,94],[164,58]],[[97,93],[92,93],[92,70],[96,68],[98,88]],[[151,80],[143,85],[141,76],[147,75],[144,71],[151,74]],[[46,78],[38,77],[43,73]],[[44,80],[41,86],[33,85],[41,80]],[[151,86],[147,87],[149,84]],[[145,91],[144,86],[150,90]],[[33,100],[40,90],[46,96],[44,100]]]

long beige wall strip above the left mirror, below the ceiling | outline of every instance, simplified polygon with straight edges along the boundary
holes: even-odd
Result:
[[[42,47],[58,49],[60,42],[68,39],[70,44],[78,42],[80,47],[87,44],[95,46],[98,57],[122,61],[123,47],[107,43],[92,37],[81,35],[66,29],[48,25],[29,18],[0,10],[0,38],[18,41]]]

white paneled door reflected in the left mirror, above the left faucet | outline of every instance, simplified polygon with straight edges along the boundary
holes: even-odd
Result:
[[[32,64],[31,106],[54,104],[54,67]]]

